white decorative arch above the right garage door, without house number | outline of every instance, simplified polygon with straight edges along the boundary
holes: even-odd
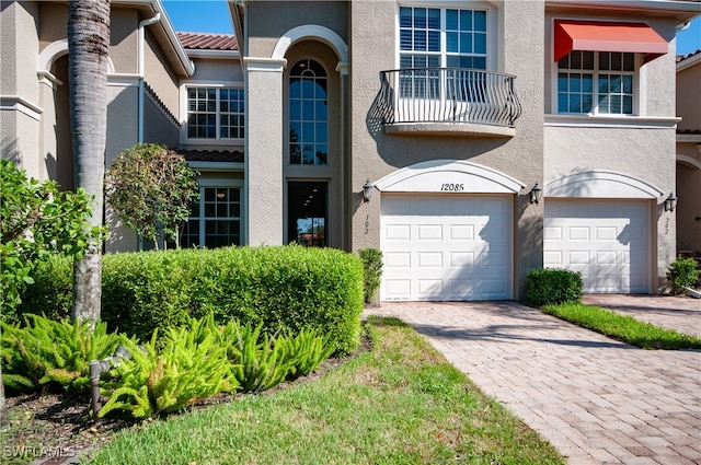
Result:
[[[657,187],[633,176],[612,171],[582,171],[545,184],[545,197],[658,199]]]

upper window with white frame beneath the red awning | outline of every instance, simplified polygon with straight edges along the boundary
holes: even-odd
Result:
[[[574,50],[558,62],[558,113],[633,115],[635,54]]]

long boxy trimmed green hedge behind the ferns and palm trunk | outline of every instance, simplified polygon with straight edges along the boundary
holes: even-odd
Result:
[[[56,272],[56,269],[68,272]],[[37,276],[20,312],[70,314],[70,264]],[[359,344],[363,264],[352,254],[301,246],[138,252],[103,257],[102,319],[112,330],[148,340],[156,328],[208,314],[267,332],[314,328],[337,352]],[[68,293],[67,293],[68,292]]]

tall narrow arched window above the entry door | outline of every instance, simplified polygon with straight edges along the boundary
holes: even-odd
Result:
[[[326,71],[317,61],[299,60],[289,72],[289,163],[329,162]]]

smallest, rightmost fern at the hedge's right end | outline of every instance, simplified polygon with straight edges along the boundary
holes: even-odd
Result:
[[[336,347],[330,336],[319,336],[314,328],[303,328],[296,336],[288,334],[275,344],[283,346],[290,364],[287,373],[289,381],[310,374],[331,357]]]

